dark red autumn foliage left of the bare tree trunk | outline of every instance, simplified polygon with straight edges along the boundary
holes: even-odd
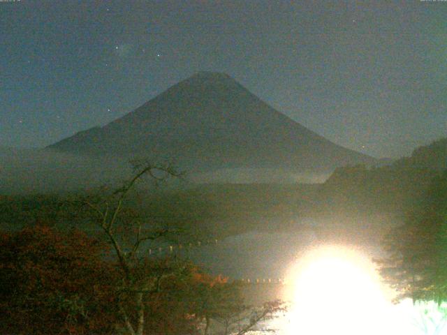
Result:
[[[78,230],[45,226],[0,234],[1,334],[115,331],[114,268]]]

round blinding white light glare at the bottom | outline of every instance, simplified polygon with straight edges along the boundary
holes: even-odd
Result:
[[[390,302],[369,258],[353,249],[326,246],[310,251],[289,276],[295,283],[286,334],[419,335]],[[408,306],[407,306],[408,307]]]

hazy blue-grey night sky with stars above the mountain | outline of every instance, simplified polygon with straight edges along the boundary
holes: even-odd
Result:
[[[402,156],[447,135],[447,1],[1,0],[0,146],[106,124],[198,70]]]

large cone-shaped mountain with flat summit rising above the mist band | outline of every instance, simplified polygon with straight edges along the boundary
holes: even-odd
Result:
[[[329,172],[374,163],[251,94],[229,75],[199,72],[124,117],[52,144],[73,154],[156,156],[182,168],[287,168]]]

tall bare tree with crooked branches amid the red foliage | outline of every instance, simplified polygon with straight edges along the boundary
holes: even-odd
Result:
[[[88,207],[93,214],[93,222],[100,228],[112,245],[119,265],[120,281],[118,289],[118,311],[125,332],[130,335],[142,335],[145,329],[145,297],[161,288],[163,279],[181,273],[182,266],[159,267],[148,269],[138,256],[140,248],[146,241],[155,241],[167,237],[172,230],[167,228],[147,228],[138,216],[129,214],[124,202],[138,182],[144,177],[149,181],[160,183],[170,178],[178,178],[177,172],[170,164],[152,164],[149,161],[134,161],[134,174],[123,186],[107,195],[83,198],[82,205]],[[129,236],[130,234],[130,236]],[[127,238],[126,238],[127,237]],[[129,308],[129,303],[131,308]]]

